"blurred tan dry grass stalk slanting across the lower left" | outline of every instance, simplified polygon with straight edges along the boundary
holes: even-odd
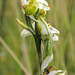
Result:
[[[24,71],[26,75],[31,75],[29,71],[24,67],[24,65],[20,62],[20,60],[16,57],[16,55],[12,52],[12,50],[9,48],[9,46],[5,43],[5,41],[0,37],[0,42],[2,45],[6,48],[6,50],[9,52],[9,54],[14,58],[14,60],[17,62],[17,64],[21,67],[21,69]]]

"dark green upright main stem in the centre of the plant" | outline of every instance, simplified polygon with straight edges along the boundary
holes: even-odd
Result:
[[[36,14],[34,15],[34,17],[36,18],[36,20],[38,20],[39,18],[39,9],[37,10]],[[40,64],[40,68],[41,68],[41,64],[42,64],[42,56],[41,56],[41,37],[38,34],[38,23],[35,22],[35,43],[36,43],[36,47],[37,47],[37,52],[38,52],[38,57],[39,57],[39,64]]]

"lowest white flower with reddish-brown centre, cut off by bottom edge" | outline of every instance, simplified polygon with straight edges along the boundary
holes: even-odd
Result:
[[[42,75],[65,75],[65,70],[56,70],[54,69],[51,62],[53,61],[53,54],[48,55],[41,65],[41,74]],[[49,68],[50,67],[50,68]],[[52,67],[52,68],[51,68]]]

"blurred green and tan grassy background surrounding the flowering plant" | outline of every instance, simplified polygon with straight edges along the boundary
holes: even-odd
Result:
[[[60,31],[54,45],[54,65],[67,75],[75,75],[75,0],[47,0],[51,10],[46,21]],[[16,18],[25,23],[17,0],[0,0],[0,36],[32,75],[39,75],[37,52],[33,36],[22,38],[22,28]],[[0,43],[0,75],[25,75]]]

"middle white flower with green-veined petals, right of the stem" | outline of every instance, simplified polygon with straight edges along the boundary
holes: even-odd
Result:
[[[39,20],[39,25],[41,27],[41,33],[44,39],[51,38],[54,42],[59,40],[56,34],[60,34],[60,32],[51,25],[48,25],[42,18]]]

